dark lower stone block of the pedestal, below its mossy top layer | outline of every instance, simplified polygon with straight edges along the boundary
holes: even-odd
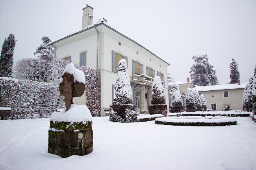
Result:
[[[62,158],[87,155],[93,151],[93,131],[65,132],[49,130],[48,152]]]

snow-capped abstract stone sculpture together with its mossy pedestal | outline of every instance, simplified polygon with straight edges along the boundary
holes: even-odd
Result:
[[[93,151],[91,112],[85,105],[72,104],[73,97],[80,97],[85,90],[81,70],[70,63],[60,79],[59,91],[65,97],[66,110],[53,112],[50,119],[48,152],[63,158],[87,155]]]

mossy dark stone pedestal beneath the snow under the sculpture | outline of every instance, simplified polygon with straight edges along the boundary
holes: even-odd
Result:
[[[93,151],[92,123],[50,121],[48,152],[63,158]]]

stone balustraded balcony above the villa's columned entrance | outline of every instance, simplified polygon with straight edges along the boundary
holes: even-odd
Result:
[[[130,76],[130,83],[131,84],[145,84],[146,86],[153,85],[154,78],[146,76],[146,75],[131,75]],[[162,81],[163,85],[163,81]]]

